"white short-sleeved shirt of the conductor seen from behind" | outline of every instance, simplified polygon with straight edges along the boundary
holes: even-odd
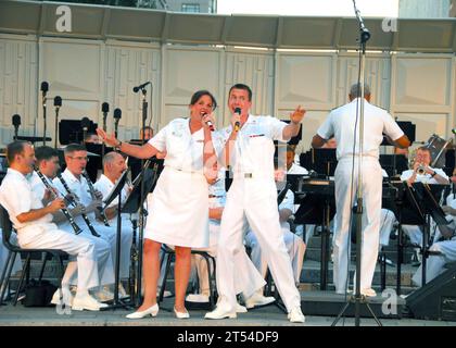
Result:
[[[334,135],[338,142],[338,160],[353,154],[356,105],[358,101],[360,99],[356,98],[352,102],[332,110],[317,130],[317,134],[324,139],[329,139]],[[404,133],[385,110],[370,104],[367,100],[364,103],[364,114],[363,156],[378,159],[379,147],[383,140],[382,134],[387,134],[392,140],[397,140]],[[359,120],[356,132],[356,154],[359,153],[358,129]]]

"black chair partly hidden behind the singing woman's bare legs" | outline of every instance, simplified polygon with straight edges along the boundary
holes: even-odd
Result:
[[[165,266],[165,275],[163,276],[162,285],[160,288],[160,294],[159,294],[159,299],[157,299],[159,303],[163,301],[163,295],[165,294],[166,279],[168,278],[170,263],[173,261],[173,258],[176,256],[175,251],[166,245],[162,245],[162,251],[163,251],[163,258],[160,262],[160,265],[161,265],[160,269],[162,269],[163,262],[166,262],[166,266]],[[215,283],[215,258],[208,254],[208,252],[206,251],[191,250],[191,253],[201,256],[207,264],[207,276],[208,276],[208,284],[210,284],[210,309],[213,309],[215,307],[215,298],[216,298],[215,287],[213,285]],[[214,268],[213,272],[211,272],[211,263]]]

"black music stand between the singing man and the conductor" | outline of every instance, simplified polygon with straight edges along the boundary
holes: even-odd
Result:
[[[320,186],[317,183],[322,185]],[[302,177],[294,197],[295,202],[300,204],[294,213],[294,223],[321,225],[320,290],[326,290],[329,269],[330,222],[335,214],[333,183]],[[299,200],[296,200],[296,197],[299,197]]]

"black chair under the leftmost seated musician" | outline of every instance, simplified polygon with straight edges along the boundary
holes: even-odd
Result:
[[[9,250],[9,256],[8,256],[8,259],[7,259],[7,263],[3,268],[1,278],[0,278],[0,285],[2,285],[2,291],[1,291],[1,295],[0,295],[0,303],[3,301],[4,293],[5,293],[9,284],[10,284],[11,272],[12,272],[12,269],[13,269],[14,261],[17,257],[17,253],[26,254],[26,259],[25,259],[25,265],[24,265],[24,268],[21,272],[20,283],[18,283],[16,291],[15,291],[14,302],[13,302],[14,306],[17,304],[17,298],[18,298],[20,291],[22,290],[22,287],[23,287],[23,284],[24,284],[24,278],[25,278],[26,274],[27,274],[27,283],[28,283],[29,271],[30,271],[30,260],[31,260],[31,254],[34,254],[34,253],[41,254],[41,258],[45,257],[43,261],[42,261],[41,271],[40,271],[40,274],[39,274],[38,282],[41,282],[42,275],[45,273],[45,266],[46,266],[46,263],[47,263],[48,259],[54,258],[58,261],[58,265],[59,265],[59,273],[58,273],[59,288],[60,288],[61,294],[62,294],[62,277],[63,277],[63,273],[64,273],[63,259],[67,258],[68,254],[65,251],[60,250],[60,249],[22,249],[21,247],[16,246],[16,245],[13,245],[10,241],[11,234],[13,233],[10,216],[8,214],[8,211],[1,204],[0,204],[0,223],[1,223],[2,231],[3,231],[3,237],[2,237],[3,240],[2,241],[3,241],[3,245],[7,247],[7,249]]]

